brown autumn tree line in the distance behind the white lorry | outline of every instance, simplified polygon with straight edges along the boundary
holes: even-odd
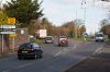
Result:
[[[30,34],[34,35],[37,29],[47,29],[47,35],[58,36],[66,35],[68,37],[82,37],[82,34],[86,32],[86,26],[76,23],[75,21],[66,22],[62,26],[55,26],[46,17],[40,20],[33,20],[31,22],[33,25],[30,26]],[[32,32],[33,31],[33,32]]]

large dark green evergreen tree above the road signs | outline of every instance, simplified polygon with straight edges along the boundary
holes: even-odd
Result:
[[[42,1],[43,2],[43,1]],[[11,0],[3,4],[9,17],[15,17],[22,26],[30,24],[31,20],[43,16],[38,0]]]

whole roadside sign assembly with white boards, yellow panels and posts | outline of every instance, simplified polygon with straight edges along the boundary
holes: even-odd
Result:
[[[3,35],[8,34],[13,38],[13,50],[14,50],[14,37],[15,37],[15,17],[8,17],[8,24],[0,25],[0,34],[2,35],[2,52],[3,52]]]

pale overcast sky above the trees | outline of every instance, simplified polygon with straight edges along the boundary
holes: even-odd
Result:
[[[3,0],[4,1],[4,0]],[[81,2],[85,0],[43,0],[44,16],[55,25],[74,21],[76,17],[85,20],[85,10]],[[86,0],[86,27],[87,33],[95,33],[99,28],[102,19],[107,19],[108,2]]]

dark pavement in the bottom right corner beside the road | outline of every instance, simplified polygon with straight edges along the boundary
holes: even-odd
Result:
[[[65,72],[110,72],[110,41],[105,43],[103,49]]]

